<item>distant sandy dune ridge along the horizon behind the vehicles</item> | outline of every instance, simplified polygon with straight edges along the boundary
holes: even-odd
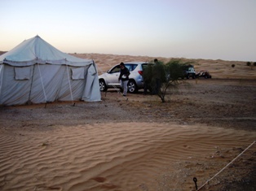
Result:
[[[168,62],[172,58],[163,57],[148,57],[148,56],[130,56],[117,54],[72,54],[82,59],[94,59],[99,67],[99,73],[106,72],[110,67],[121,62],[150,62],[153,59],[159,59]],[[175,58],[173,58],[175,59]],[[196,72],[201,70],[208,70],[213,78],[229,78],[229,79],[256,79],[256,66],[251,67],[246,65],[247,62],[241,61],[226,61],[226,60],[212,60],[212,59],[184,59],[194,62]],[[235,64],[235,67],[232,67]]]

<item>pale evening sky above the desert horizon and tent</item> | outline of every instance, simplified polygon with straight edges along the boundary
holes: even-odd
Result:
[[[0,50],[256,62],[256,0],[0,0]]]

